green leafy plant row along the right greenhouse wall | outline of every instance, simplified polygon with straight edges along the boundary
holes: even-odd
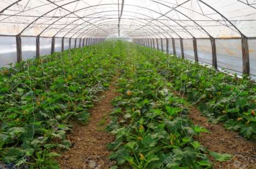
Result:
[[[189,60],[148,48],[154,65],[172,88],[197,104],[210,121],[238,131],[247,139],[256,138],[256,83],[248,77],[238,78]]]

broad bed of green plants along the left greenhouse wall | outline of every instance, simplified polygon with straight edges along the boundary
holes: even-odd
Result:
[[[58,168],[53,149],[68,149],[70,121],[86,122],[115,74],[111,42],[27,60],[0,75],[0,164]]]

